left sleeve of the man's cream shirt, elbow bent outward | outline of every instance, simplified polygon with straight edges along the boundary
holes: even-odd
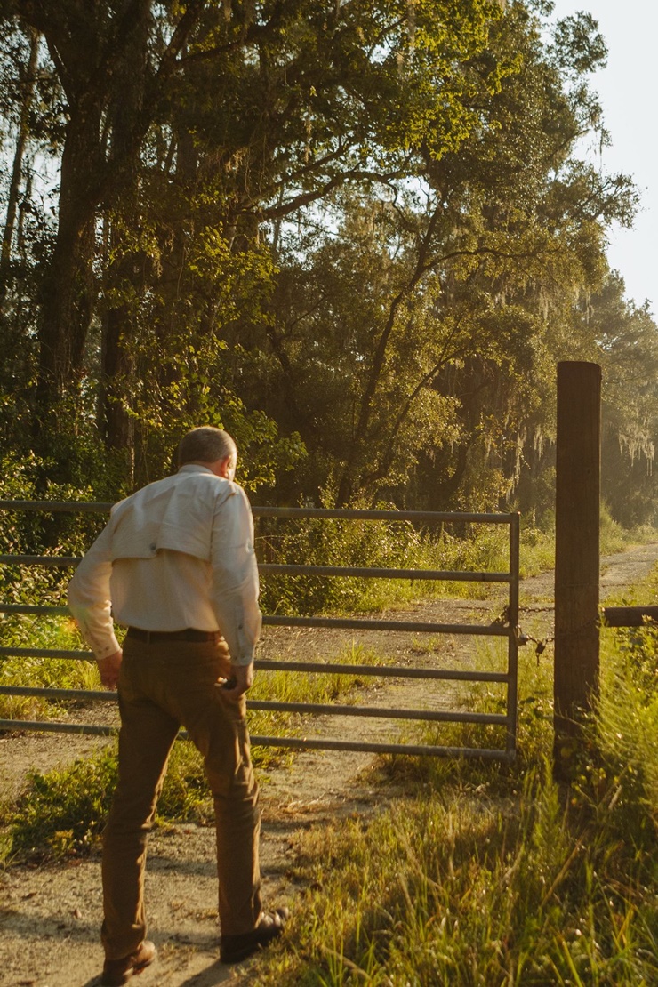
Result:
[[[68,605],[98,659],[120,649],[111,617],[111,527],[106,525],[68,584]]]

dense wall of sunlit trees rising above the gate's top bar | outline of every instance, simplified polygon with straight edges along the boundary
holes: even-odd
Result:
[[[554,364],[587,358],[614,516],[650,521],[655,325],[605,260],[636,193],[576,143],[608,139],[590,15],[548,39],[548,4],[493,0],[76,11],[1,15],[10,487],[34,452],[39,495],[115,499],[208,421],[266,502],[514,497],[543,525]]]

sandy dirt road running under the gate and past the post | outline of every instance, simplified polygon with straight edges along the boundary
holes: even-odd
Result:
[[[658,562],[658,545],[644,545],[602,560],[602,598],[620,592],[646,575]],[[522,584],[524,630],[536,637],[551,633],[552,574]],[[422,603],[408,612],[408,619],[486,623],[497,615],[500,599]],[[397,613],[397,619],[404,615]],[[353,632],[314,631],[300,635],[270,634],[263,654],[336,653],[349,644]],[[387,646],[396,659],[417,659],[417,635],[380,635],[364,646]],[[440,658],[449,663],[468,660],[464,640],[446,638]],[[391,705],[392,690],[381,689],[371,699]],[[408,690],[409,686],[404,686]],[[408,702],[405,693],[405,706]],[[322,732],[345,729],[334,720],[323,723]],[[350,726],[353,735],[353,726]],[[94,738],[5,736],[0,738],[0,784],[18,792],[31,766],[39,770],[70,760],[73,751],[84,754],[102,743]],[[293,909],[295,884],[290,875],[290,840],[302,826],[352,812],[372,811],[381,791],[368,787],[362,777],[370,755],[310,751],[300,754],[289,771],[261,778],[263,808],[262,870],[265,899],[269,904],[288,903]],[[10,867],[0,874],[0,985],[2,987],[93,987],[98,984],[102,952],[100,861],[94,855],[43,867]],[[150,935],[159,949],[153,968],[139,978],[139,987],[216,987],[239,984],[248,977],[246,967],[231,969],[218,961],[214,831],[181,825],[153,834],[146,883]],[[266,953],[255,963],[266,962]],[[285,985],[283,985],[285,987]]]

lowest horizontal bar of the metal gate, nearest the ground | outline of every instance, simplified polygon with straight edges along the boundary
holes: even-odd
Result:
[[[27,720],[0,720],[0,730],[29,730],[37,733],[85,733],[113,736],[118,726],[98,726],[93,723],[56,723]],[[188,739],[182,732],[182,740]],[[479,749],[477,747],[440,747],[431,744],[359,743],[356,740],[331,740],[323,737],[252,736],[253,747],[286,747],[296,750],[352,750],[366,754],[414,754],[418,757],[466,757],[485,761],[513,761],[513,752]]]

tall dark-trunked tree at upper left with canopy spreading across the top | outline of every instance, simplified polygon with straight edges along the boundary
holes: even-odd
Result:
[[[67,116],[57,234],[41,285],[41,416],[77,387],[99,290],[97,223],[134,196],[154,129],[176,141],[171,161],[190,152],[192,180],[220,193],[226,229],[252,242],[260,221],[322,198],[378,157],[387,181],[403,167],[412,126],[439,153],[474,125],[463,97],[481,82],[468,62],[486,43],[492,11],[484,0],[435,8],[15,0],[9,14],[45,39]],[[109,327],[110,349],[115,335]]]

